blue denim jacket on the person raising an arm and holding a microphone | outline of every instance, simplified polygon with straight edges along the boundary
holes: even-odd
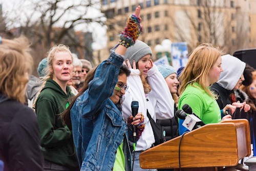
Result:
[[[131,166],[127,126],[120,110],[110,100],[123,57],[111,53],[97,68],[89,89],[71,109],[74,143],[81,170],[112,170],[118,146],[124,140],[125,165]],[[126,138],[125,138],[126,137]],[[129,162],[130,161],[130,162]]]

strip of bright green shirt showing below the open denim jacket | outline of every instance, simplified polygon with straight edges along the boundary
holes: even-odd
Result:
[[[114,171],[125,171],[125,159],[123,153],[123,142],[119,145],[116,152],[116,160],[114,163]]]

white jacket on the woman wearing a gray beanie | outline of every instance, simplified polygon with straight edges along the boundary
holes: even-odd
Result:
[[[139,76],[140,71],[138,69],[130,70],[131,74],[127,77],[129,89],[124,95],[122,115],[125,119],[130,117],[132,115],[132,101],[139,102],[138,113],[142,113],[144,116],[145,129],[137,141],[136,151],[144,151],[155,143],[153,130],[146,116],[146,111],[148,110],[155,121],[156,119],[172,118],[174,117],[174,100],[167,83],[155,65],[147,72],[147,80],[152,89],[149,94],[144,93],[143,84]]]

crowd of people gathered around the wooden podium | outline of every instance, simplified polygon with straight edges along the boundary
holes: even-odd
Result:
[[[0,171],[156,170],[142,169],[139,155],[159,144],[156,125],[165,141],[188,131],[175,115],[184,104],[205,124],[248,119],[256,146],[256,71],[211,44],[195,48],[178,71],[156,66],[137,40],[140,23],[138,6],[94,68],[54,45],[39,78],[28,39],[0,37]]]

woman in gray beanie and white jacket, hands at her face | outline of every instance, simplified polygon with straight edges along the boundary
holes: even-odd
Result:
[[[122,114],[127,119],[132,114],[132,101],[139,102],[138,112],[144,117],[144,130],[137,137],[133,170],[143,170],[139,165],[139,154],[155,143],[147,112],[155,121],[173,118],[174,100],[162,74],[153,65],[152,50],[148,45],[137,40],[133,47],[127,49],[124,57],[131,75],[127,78],[129,90],[125,94]],[[129,119],[127,121],[129,123]],[[130,144],[133,142],[130,141]]]

